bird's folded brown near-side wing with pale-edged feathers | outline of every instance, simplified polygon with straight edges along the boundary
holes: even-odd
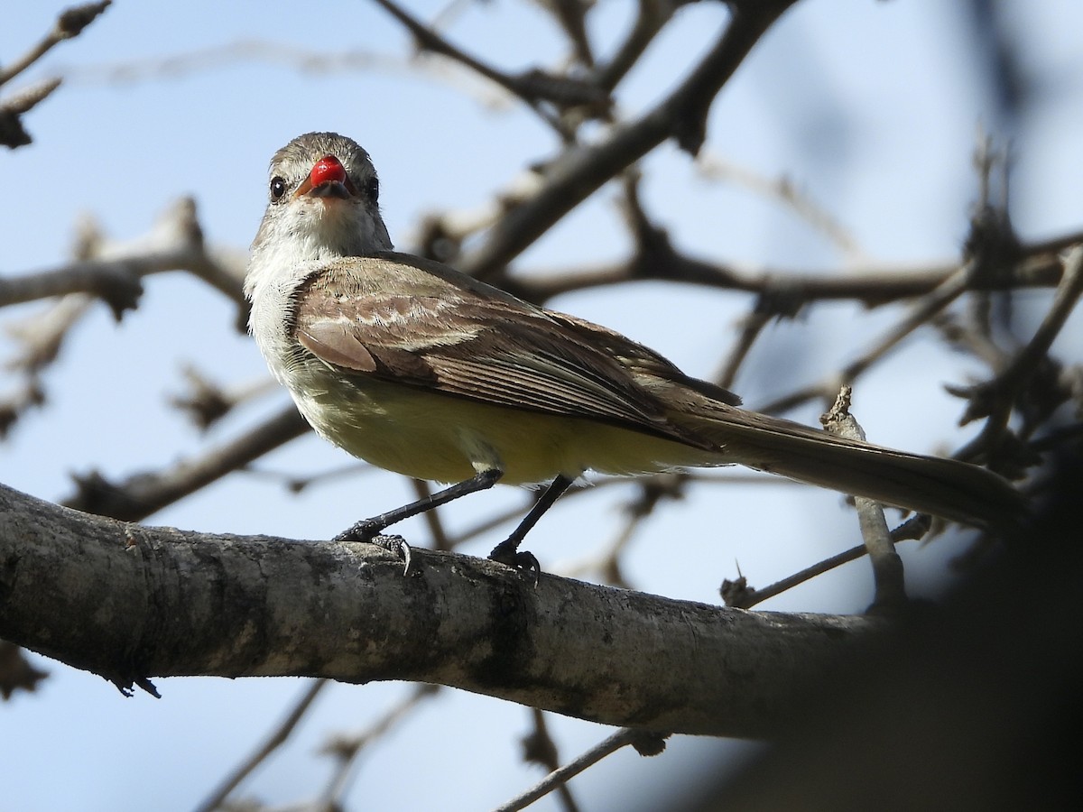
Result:
[[[362,379],[710,447],[667,420],[664,406],[636,383],[618,354],[590,340],[585,325],[446,265],[383,253],[316,270],[297,292],[292,329],[321,362]],[[668,364],[645,348],[639,354]]]

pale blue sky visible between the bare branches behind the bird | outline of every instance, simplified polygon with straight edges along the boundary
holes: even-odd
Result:
[[[591,17],[599,42],[612,43],[634,3],[605,2]],[[0,61],[21,54],[51,25],[60,6],[14,0],[0,10]],[[442,6],[412,2],[430,18]],[[1026,239],[1055,236],[1083,223],[1083,6],[1033,0],[1013,6],[1027,67],[1041,79],[1026,126],[1012,133],[1013,213]],[[681,75],[675,66],[706,47],[725,22],[720,4],[682,10],[648,53],[619,96],[628,116],[645,109]],[[962,28],[962,12],[939,0],[891,3],[805,0],[759,44],[723,90],[713,112],[707,150],[767,178],[787,176],[843,222],[877,262],[949,260],[966,233],[975,182],[969,157],[980,125],[999,127]],[[562,44],[532,5],[479,5],[449,36],[506,68],[552,64]],[[219,58],[231,44],[259,42],[262,56]],[[235,49],[234,49],[235,50]],[[305,71],[298,54],[373,57],[365,69]],[[62,73],[66,83],[25,119],[31,147],[0,154],[0,274],[64,262],[75,224],[93,212],[118,239],[144,233],[180,195],[193,195],[207,239],[244,250],[264,205],[271,154],[293,135],[337,130],[363,143],[382,181],[392,238],[408,249],[427,211],[473,208],[491,200],[519,169],[557,148],[553,136],[513,103],[484,104],[493,93],[459,70],[408,69],[409,41],[375,5],[118,0],[80,38],[63,43],[23,81]],[[172,71],[164,57],[203,54]],[[110,78],[132,66],[131,78]],[[697,175],[671,145],[645,161],[644,202],[674,240],[697,256],[751,267],[839,269],[846,258],[775,201]],[[577,266],[624,256],[628,238],[606,187],[533,246],[521,273]],[[1042,297],[1021,302],[1041,313]],[[666,353],[687,371],[715,371],[747,300],[702,289],[628,285],[569,294],[551,303],[614,327]],[[18,309],[30,315],[40,303]],[[5,323],[13,311],[0,314]],[[757,346],[736,389],[755,406],[817,380],[853,357],[898,311],[871,314],[849,305],[815,310],[782,324]],[[99,469],[122,477],[197,454],[234,436],[285,403],[282,393],[216,427],[208,438],[166,403],[182,389],[187,363],[222,382],[264,375],[247,337],[230,329],[229,303],[183,275],[146,285],[141,309],[115,325],[96,307],[71,336],[47,377],[50,404],[0,446],[0,480],[37,496],[62,499],[70,475]],[[809,337],[814,337],[810,343]],[[1075,324],[1062,341],[1079,341]],[[0,338],[0,353],[10,344]],[[958,445],[958,404],[942,391],[976,368],[945,359],[917,338],[858,390],[858,414],[870,436],[887,445],[932,450]],[[5,387],[0,375],[0,388]],[[902,393],[900,395],[900,393]],[[814,421],[818,408],[798,415]],[[340,467],[340,451],[315,437],[295,442],[262,463],[276,471]],[[630,496],[625,490],[625,497]],[[234,475],[154,516],[185,528],[323,538],[361,515],[408,498],[388,474],[366,473],[285,498],[273,482]],[[785,510],[778,500],[785,497]],[[520,503],[498,489],[485,498]],[[469,523],[477,506],[456,506]],[[559,569],[582,558],[582,539],[608,539],[621,514],[601,494],[570,500],[546,516],[534,551]],[[764,584],[856,542],[849,515],[832,494],[778,484],[697,488],[652,516],[628,551],[630,579],[663,594],[716,601],[733,562]],[[719,533],[722,526],[723,532]],[[819,528],[810,534],[808,527]],[[405,528],[423,538],[422,525]],[[721,543],[702,536],[720,535]],[[468,552],[484,553],[495,538]],[[800,543],[798,543],[798,541]],[[953,546],[954,545],[954,546]],[[694,546],[696,566],[683,554]],[[944,559],[961,549],[908,551],[908,572],[937,582]],[[856,611],[867,602],[867,573],[851,565],[783,597],[769,608]],[[929,587],[931,588],[931,587]],[[55,663],[32,696],[0,707],[0,764],[12,809],[188,809],[247,752],[302,690],[298,680],[169,679],[164,699],[122,699],[96,677]],[[326,773],[316,757],[332,730],[356,730],[408,686],[337,685],[318,703],[298,741],[245,791],[273,802],[311,796]],[[572,756],[608,734],[597,725],[552,722]],[[518,760],[529,729],[518,707],[442,692],[365,759],[351,808],[492,807],[531,784],[537,772]],[[433,735],[435,731],[439,735]],[[614,799],[665,793],[697,763],[741,750],[730,743],[675,741],[656,759],[621,754],[576,782],[585,808],[623,808]],[[419,781],[418,774],[425,780]],[[63,780],[61,780],[63,776]],[[455,788],[448,798],[447,787]],[[621,796],[621,793],[626,794]],[[548,806],[547,806],[548,804]],[[544,801],[536,807],[554,807]]]

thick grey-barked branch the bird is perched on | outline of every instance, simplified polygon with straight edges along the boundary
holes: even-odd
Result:
[[[119,685],[305,675],[452,685],[608,724],[767,736],[875,623],[671,601],[365,543],[125,524],[0,486],[0,637]]]

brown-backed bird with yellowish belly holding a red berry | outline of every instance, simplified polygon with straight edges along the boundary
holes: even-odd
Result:
[[[271,160],[244,284],[250,332],[318,435],[379,468],[449,483],[336,538],[378,541],[498,482],[548,483],[490,555],[537,574],[520,543],[586,472],[733,463],[979,527],[1022,514],[1019,492],[984,468],[742,408],[614,330],[396,252],[379,191],[353,140],[290,141]]]

